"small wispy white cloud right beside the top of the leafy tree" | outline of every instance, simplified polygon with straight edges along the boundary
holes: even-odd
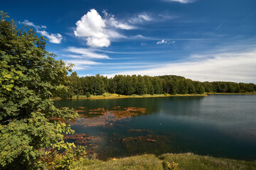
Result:
[[[31,26],[35,28],[37,33],[40,33],[41,35],[45,36],[52,43],[60,44],[61,40],[63,40],[63,36],[60,35],[59,33],[53,34],[53,33],[48,33],[46,30],[44,30],[46,29],[46,26],[37,26],[36,24],[28,20],[23,21],[23,23],[27,26]]]

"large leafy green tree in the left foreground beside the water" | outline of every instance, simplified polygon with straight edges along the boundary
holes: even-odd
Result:
[[[46,51],[46,39],[33,29],[0,21],[0,169],[38,169],[51,148],[72,133],[70,126],[49,118],[76,118],[68,108],[58,109],[50,98],[66,91],[70,67]],[[60,90],[61,89],[61,90]],[[68,144],[67,144],[68,145]],[[65,160],[65,159],[63,159]]]

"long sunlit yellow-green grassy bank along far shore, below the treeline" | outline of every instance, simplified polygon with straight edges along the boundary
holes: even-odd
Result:
[[[208,96],[207,94],[144,94],[144,95],[122,95],[122,94],[102,94],[102,95],[91,95],[88,97],[88,99],[102,99],[102,98],[149,98],[149,97],[170,97],[170,96]],[[79,98],[87,98],[86,96],[78,95],[78,96],[72,96],[72,98],[67,99],[79,99]],[[53,99],[61,99],[61,98],[53,98]]]

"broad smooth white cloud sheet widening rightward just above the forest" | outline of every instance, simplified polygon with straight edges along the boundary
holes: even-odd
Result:
[[[198,55],[197,55],[198,56]],[[209,58],[210,57],[210,58]],[[156,65],[154,69],[116,72],[149,76],[178,75],[198,81],[235,81],[256,83],[256,51],[203,55],[198,61]],[[112,77],[114,74],[109,74]]]

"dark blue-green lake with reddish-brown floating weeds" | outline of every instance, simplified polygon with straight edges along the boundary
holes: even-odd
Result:
[[[68,142],[100,159],[192,152],[256,159],[256,96],[56,100],[81,117]]]

